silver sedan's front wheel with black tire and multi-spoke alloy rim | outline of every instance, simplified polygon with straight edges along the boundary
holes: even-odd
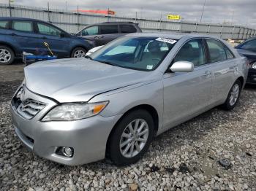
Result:
[[[154,136],[154,121],[146,110],[124,116],[110,136],[108,154],[118,166],[136,163],[146,153]]]

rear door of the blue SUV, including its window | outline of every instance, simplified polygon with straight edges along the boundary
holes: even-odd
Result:
[[[34,33],[34,22],[27,20],[12,20],[13,39],[21,51],[35,54],[37,52],[39,36]],[[20,52],[21,53],[21,52]]]

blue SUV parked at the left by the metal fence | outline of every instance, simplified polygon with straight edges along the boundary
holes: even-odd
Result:
[[[58,58],[83,57],[94,47],[94,42],[72,36],[42,20],[0,17],[0,64],[10,64],[15,58],[21,58],[23,51],[47,52],[44,42]]]

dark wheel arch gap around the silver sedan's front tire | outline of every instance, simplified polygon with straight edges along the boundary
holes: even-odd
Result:
[[[109,149],[109,144],[110,144],[110,137],[112,136],[116,126],[118,125],[118,122],[120,122],[125,116],[127,116],[127,114],[129,114],[130,112],[133,112],[135,110],[138,109],[144,109],[146,110],[149,114],[151,114],[151,117],[153,118],[154,121],[154,136],[157,135],[157,131],[159,129],[159,114],[157,112],[157,109],[154,108],[154,106],[148,105],[148,104],[141,104],[138,106],[134,106],[131,109],[127,110],[127,112],[125,112],[120,119],[116,122],[116,124],[114,125],[114,127],[112,128],[112,130],[110,131],[110,134],[108,135],[108,140],[107,140],[107,144],[106,144],[106,150],[105,150],[105,155],[108,155],[108,149]]]

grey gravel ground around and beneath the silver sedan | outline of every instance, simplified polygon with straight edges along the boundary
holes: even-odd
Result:
[[[232,112],[211,109],[163,133],[134,165],[69,167],[37,157],[15,136],[10,98],[22,69],[0,66],[0,190],[256,190],[256,87]]]

